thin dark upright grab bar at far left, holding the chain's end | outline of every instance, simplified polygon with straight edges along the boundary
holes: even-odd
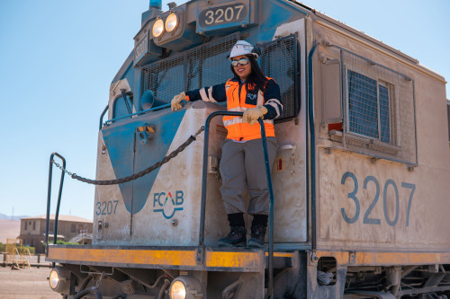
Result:
[[[63,169],[66,169],[66,159],[56,153],[53,152],[50,154],[50,160],[49,160],[49,187],[47,192],[47,218],[45,223],[45,255],[49,256],[49,218],[50,218],[50,198],[51,198],[51,177],[53,172],[53,157],[58,156],[59,159],[62,160],[62,167]],[[59,192],[58,192],[58,204],[57,204],[57,210],[55,214],[55,222],[54,222],[54,236],[53,236],[53,244],[57,243],[57,236],[58,236],[58,216],[59,216],[59,205],[61,203],[61,194],[62,194],[62,185],[64,183],[64,171],[61,171],[61,180],[59,181]],[[55,267],[55,263],[52,263],[52,268]]]

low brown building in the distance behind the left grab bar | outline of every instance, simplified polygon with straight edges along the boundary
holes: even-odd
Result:
[[[49,239],[53,240],[55,215],[50,215]],[[42,243],[45,242],[46,215],[21,218],[21,233],[19,238],[23,245],[29,245],[36,249],[36,253],[43,252]],[[58,240],[85,242],[92,239],[92,220],[73,216],[58,215]]]

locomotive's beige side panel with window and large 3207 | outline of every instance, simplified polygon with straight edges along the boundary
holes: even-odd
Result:
[[[366,40],[325,21],[318,23],[316,33],[322,39],[314,60],[319,136],[318,247],[345,251],[448,251],[450,152],[446,150],[445,80],[410,57],[379,45],[367,45]],[[347,59],[348,53],[353,61]],[[356,63],[356,59],[363,63]],[[332,78],[332,69],[327,67],[333,63],[338,78]],[[364,63],[369,66],[362,66]],[[383,72],[371,73],[375,64]],[[376,136],[364,139],[351,132],[351,109],[359,103],[353,101],[354,106],[349,108],[353,100],[349,95],[350,72],[362,74],[365,84],[370,83],[366,78],[372,77],[378,83],[387,81],[392,85],[388,145]],[[394,76],[396,81],[392,80]],[[333,90],[329,87],[332,84],[338,88]],[[364,87],[354,88],[363,91]],[[329,96],[330,92],[338,95]],[[329,111],[329,106],[339,110]],[[368,109],[365,112],[370,114]],[[365,120],[369,121],[367,114]],[[362,124],[359,119],[352,121],[357,126]],[[343,126],[338,134],[329,127],[333,123]],[[363,145],[348,146],[354,140]],[[371,145],[392,147],[368,150]],[[436,218],[441,220],[431,221]]]

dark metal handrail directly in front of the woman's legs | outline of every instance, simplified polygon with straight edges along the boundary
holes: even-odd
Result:
[[[202,203],[200,207],[200,232],[199,232],[199,251],[202,251],[204,247],[204,217],[206,211],[206,182],[207,182],[207,168],[208,168],[208,145],[209,145],[209,133],[211,119],[218,115],[227,116],[242,116],[242,112],[230,112],[230,111],[215,111],[210,114],[206,119],[204,126],[204,145],[203,145],[203,165],[202,165]],[[258,119],[259,126],[261,127],[261,140],[263,143],[264,160],[266,164],[266,177],[267,185],[270,195],[270,207],[269,207],[269,286],[267,287],[266,298],[272,297],[274,289],[274,190],[272,188],[272,178],[270,176],[270,164],[269,156],[267,154],[267,141],[266,141],[266,129],[264,128],[263,119]]]

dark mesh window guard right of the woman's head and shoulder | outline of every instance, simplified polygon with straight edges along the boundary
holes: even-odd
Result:
[[[260,66],[264,74],[280,85],[283,113],[277,121],[291,119],[297,109],[295,80],[297,74],[297,42],[295,36],[268,42],[261,46]]]

